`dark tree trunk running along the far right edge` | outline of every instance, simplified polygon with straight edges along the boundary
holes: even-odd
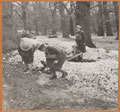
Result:
[[[118,16],[118,1],[113,2],[114,10],[115,10],[115,16],[116,16],[116,28],[117,28],[117,37],[116,40],[119,39],[119,16]]]

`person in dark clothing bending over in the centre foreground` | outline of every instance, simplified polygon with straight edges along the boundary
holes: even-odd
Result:
[[[52,73],[52,77],[50,79],[57,78],[56,71],[62,73],[62,78],[65,78],[67,72],[62,70],[62,66],[66,60],[66,54],[61,48],[57,48],[54,46],[49,46],[42,44],[39,50],[45,52],[46,56],[46,64],[42,62],[44,68],[48,67],[50,72]]]

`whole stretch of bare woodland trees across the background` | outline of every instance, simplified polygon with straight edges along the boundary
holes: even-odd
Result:
[[[17,31],[24,29],[35,35],[55,35],[69,38],[75,26],[85,31],[87,46],[95,47],[91,34],[118,39],[118,2],[3,2],[3,48],[16,48]],[[11,43],[11,44],[7,44]]]

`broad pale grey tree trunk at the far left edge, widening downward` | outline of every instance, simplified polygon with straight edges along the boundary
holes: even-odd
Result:
[[[20,39],[15,30],[12,2],[4,2],[2,6],[2,48],[3,52],[5,52],[7,50],[16,49],[19,45]]]

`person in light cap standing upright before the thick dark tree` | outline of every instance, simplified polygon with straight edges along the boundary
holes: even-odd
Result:
[[[86,47],[85,47],[85,34],[84,31],[82,30],[82,27],[80,25],[76,26],[76,34],[75,34],[75,42],[76,42],[76,53],[81,53],[81,56],[78,57],[78,61],[82,60],[83,53],[86,52]]]

